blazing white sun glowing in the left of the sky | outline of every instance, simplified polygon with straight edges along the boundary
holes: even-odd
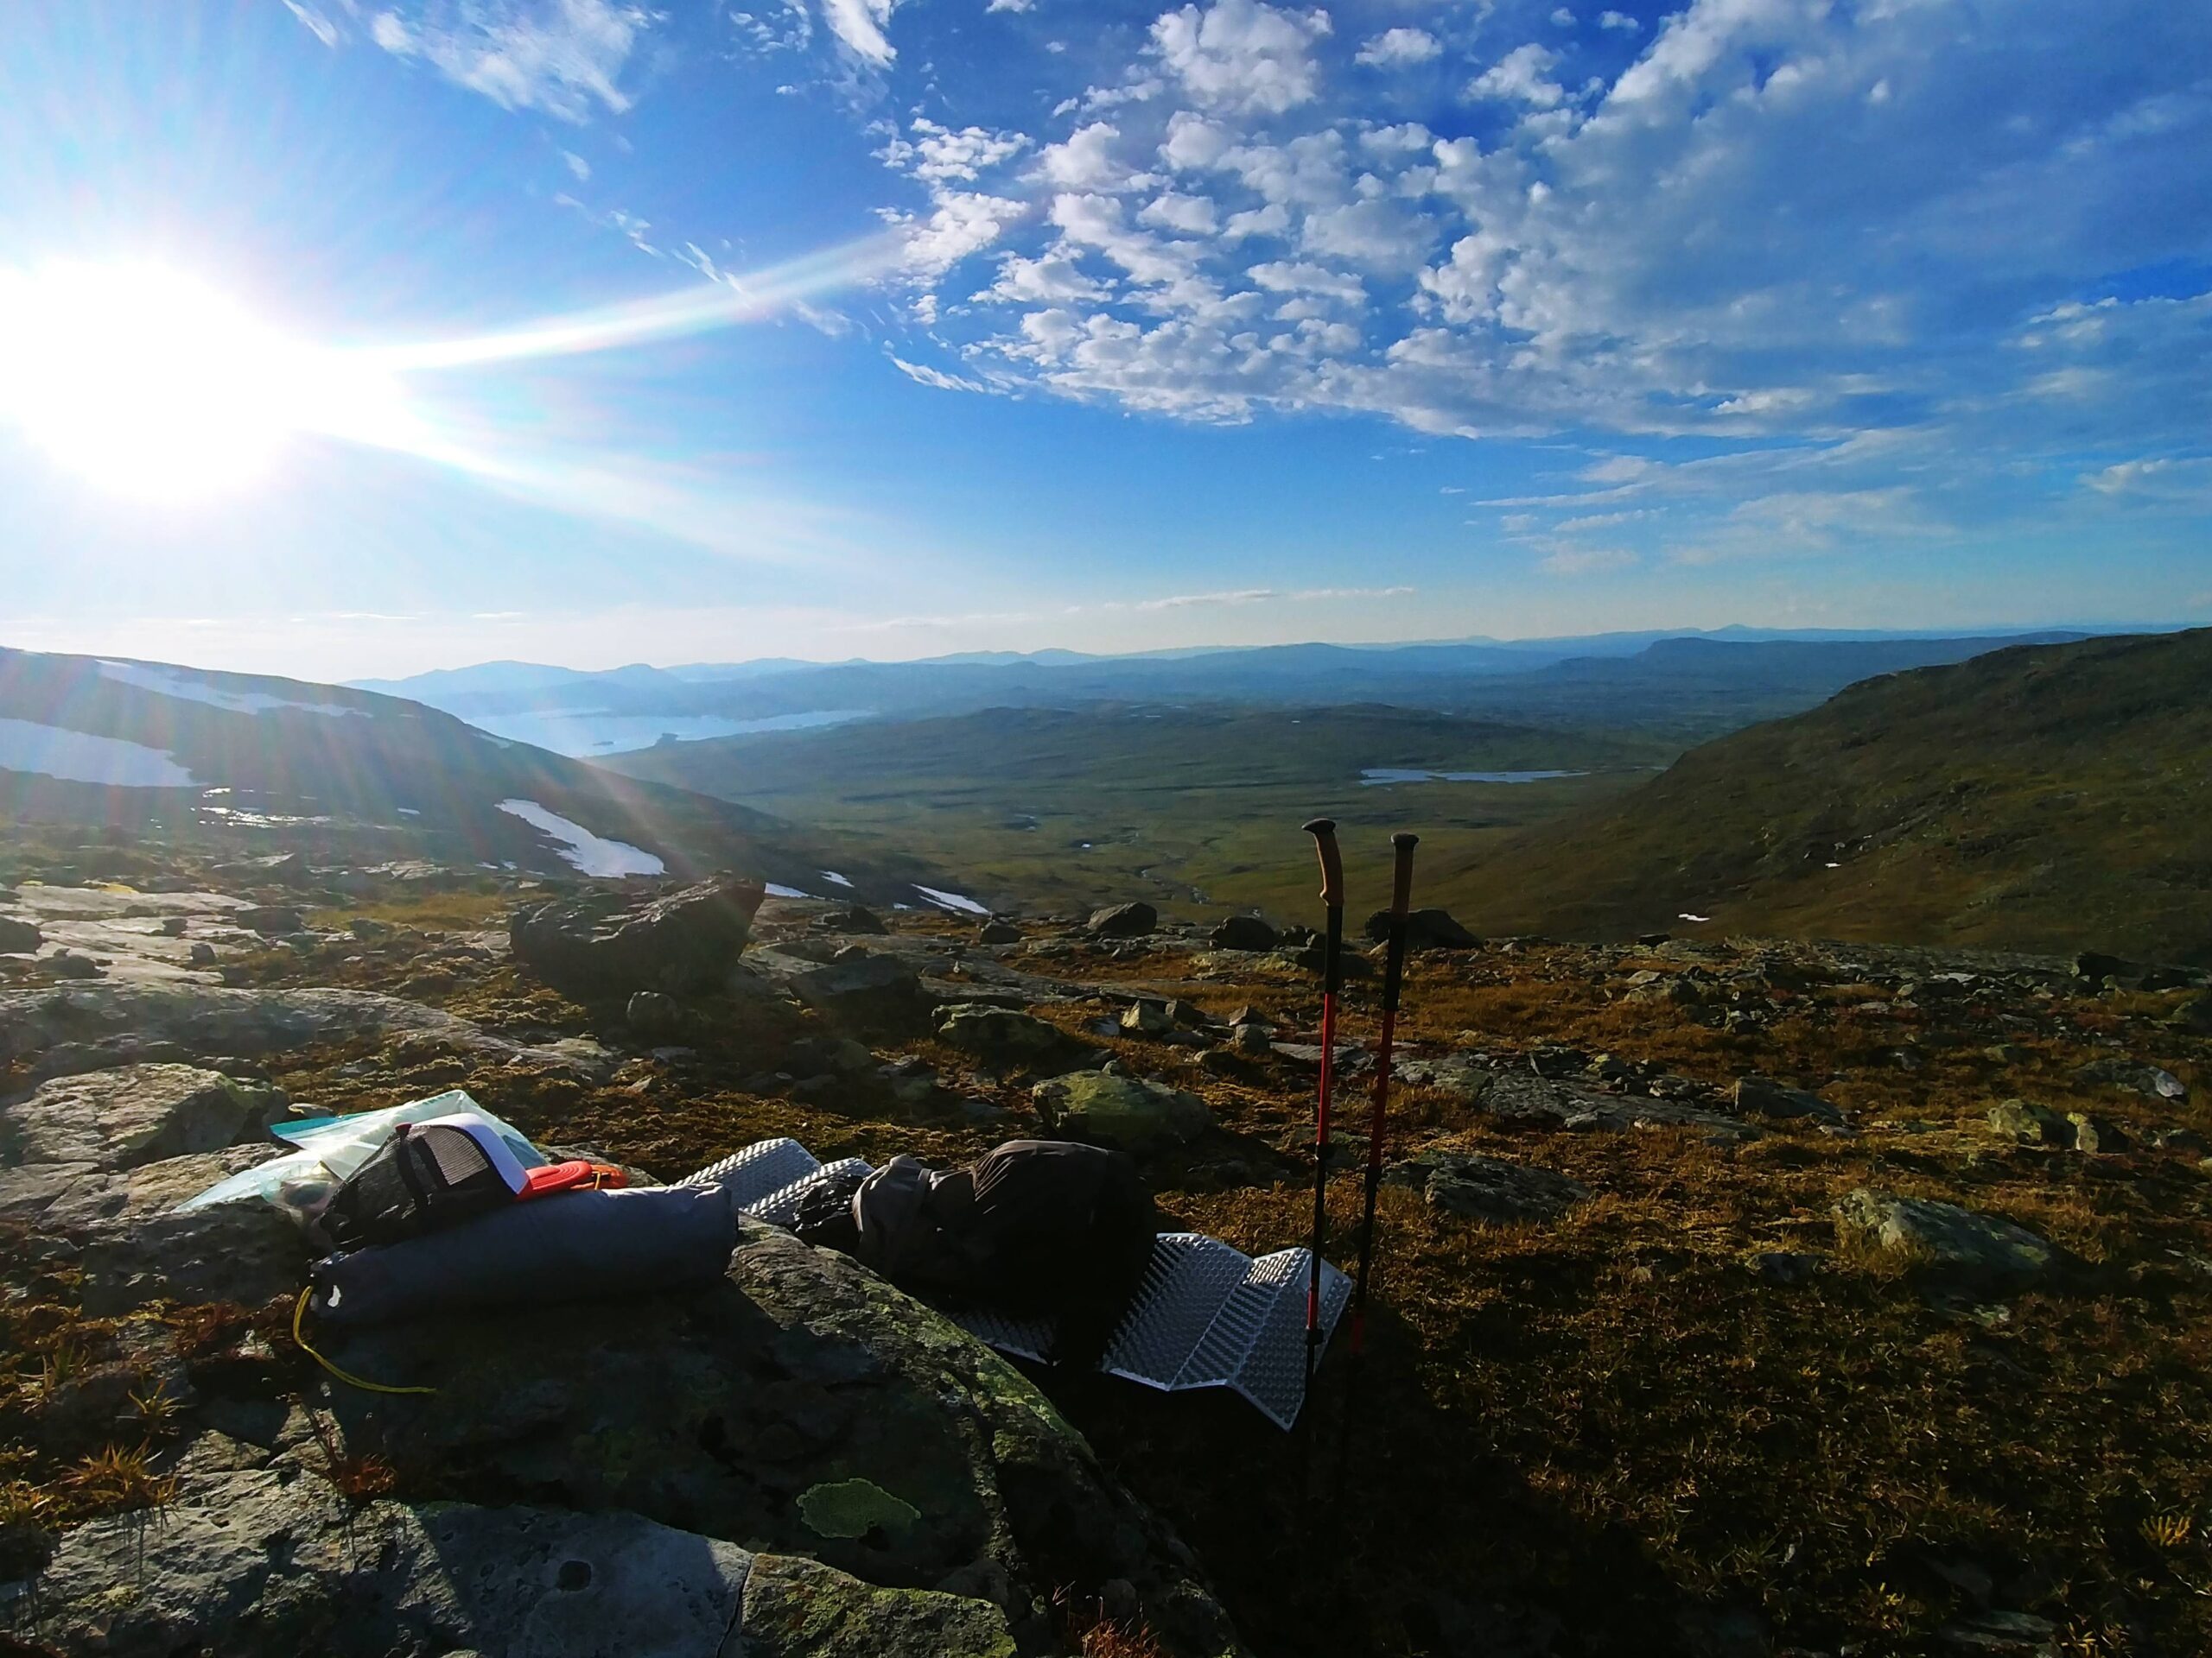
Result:
[[[161,265],[0,270],[0,422],[113,495],[261,482],[299,433],[369,438],[392,387]]]

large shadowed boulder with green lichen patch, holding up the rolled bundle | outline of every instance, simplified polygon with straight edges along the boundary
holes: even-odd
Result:
[[[332,1408],[347,1437],[374,1419],[398,1468],[445,1470],[462,1501],[560,1490],[577,1510],[818,1561],[832,1587],[834,1572],[872,1585],[836,1587],[836,1643],[794,1634],[763,1651],[998,1651],[982,1607],[911,1596],[984,1583],[1000,1585],[1024,1649],[1051,1649],[1053,1589],[1095,1594],[1113,1578],[1135,1585],[1170,1651],[1234,1647],[1188,1550],[1044,1395],[847,1256],[748,1220],[726,1282],[577,1313],[588,1364],[577,1320],[526,1309],[354,1333],[327,1349],[338,1364],[438,1395],[338,1388]],[[794,1598],[814,1572],[792,1567]],[[754,1616],[783,1618],[748,1594],[748,1631]],[[942,1647],[925,1638],[938,1618]],[[894,1629],[907,1634],[894,1643]]]

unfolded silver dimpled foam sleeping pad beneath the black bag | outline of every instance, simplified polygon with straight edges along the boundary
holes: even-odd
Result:
[[[757,1220],[787,1227],[805,1192],[845,1172],[867,1172],[860,1158],[827,1167],[799,1141],[761,1141],[721,1163],[710,1163],[679,1185],[721,1185]],[[1164,1393],[1230,1388],[1279,1428],[1290,1428],[1305,1404],[1305,1282],[1312,1258],[1303,1249],[1252,1256],[1197,1231],[1164,1231],[1121,1329],[1106,1344],[1099,1368]],[[1321,1262],[1321,1342],[1352,1300],[1352,1280]],[[1000,1318],[984,1311],[949,1315],[982,1342],[1024,1360],[1044,1360],[1053,1346],[1051,1320]]]

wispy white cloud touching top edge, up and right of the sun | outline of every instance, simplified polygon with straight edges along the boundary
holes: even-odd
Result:
[[[369,38],[400,57],[422,57],[447,80],[504,108],[582,122],[593,106],[630,108],[617,86],[653,13],[615,0],[476,0],[416,18],[378,11]]]

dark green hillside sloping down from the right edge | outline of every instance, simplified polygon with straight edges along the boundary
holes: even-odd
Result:
[[[2212,962],[2212,630],[1874,679],[1431,875],[1493,931]]]

